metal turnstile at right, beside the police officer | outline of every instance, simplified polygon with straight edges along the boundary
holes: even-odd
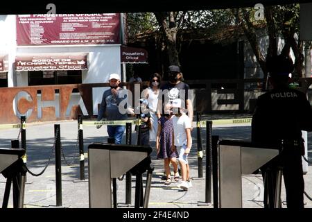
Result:
[[[252,174],[264,164],[279,155],[278,147],[255,146],[251,142],[220,140],[218,144],[218,178],[220,208],[242,207],[243,174]],[[281,180],[281,172],[278,181]],[[279,195],[279,189],[275,195]],[[279,198],[277,198],[279,200]]]

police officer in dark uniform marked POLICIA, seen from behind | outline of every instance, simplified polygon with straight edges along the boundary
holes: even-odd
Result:
[[[272,203],[276,172],[281,167],[286,188],[287,207],[304,208],[302,172],[304,141],[301,130],[312,130],[311,105],[306,99],[306,94],[288,87],[289,74],[294,69],[291,58],[281,55],[273,56],[268,58],[266,67],[271,89],[257,99],[257,106],[252,117],[252,142],[276,145],[281,149],[277,157],[261,168],[262,173],[270,169],[269,175],[272,176],[265,194],[268,192],[269,203]],[[265,207],[273,206],[272,204],[266,205],[265,201]]]

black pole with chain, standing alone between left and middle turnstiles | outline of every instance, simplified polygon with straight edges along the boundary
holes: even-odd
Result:
[[[56,206],[62,206],[62,169],[61,169],[61,145],[60,124],[54,124],[55,138],[55,184],[56,184]]]

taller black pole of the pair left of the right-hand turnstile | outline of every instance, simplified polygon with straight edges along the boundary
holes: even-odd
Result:
[[[211,169],[212,169],[212,121],[206,121],[206,196],[205,202],[211,203]]]

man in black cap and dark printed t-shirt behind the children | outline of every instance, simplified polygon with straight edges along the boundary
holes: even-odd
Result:
[[[170,105],[174,99],[182,100],[182,107],[187,109],[189,119],[193,121],[193,94],[190,91],[189,85],[182,82],[182,73],[180,67],[171,65],[168,67],[168,83],[164,83],[160,87],[157,103],[157,117],[160,118],[162,114],[168,114],[166,105]]]

